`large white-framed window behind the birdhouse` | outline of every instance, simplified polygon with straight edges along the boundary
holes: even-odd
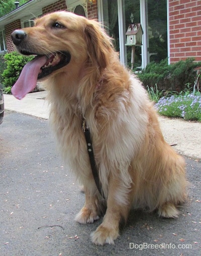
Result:
[[[167,0],[99,0],[99,21],[115,39],[120,61],[131,68],[131,46],[126,46],[129,24],[141,23],[142,46],[135,46],[134,69],[167,58]]]

